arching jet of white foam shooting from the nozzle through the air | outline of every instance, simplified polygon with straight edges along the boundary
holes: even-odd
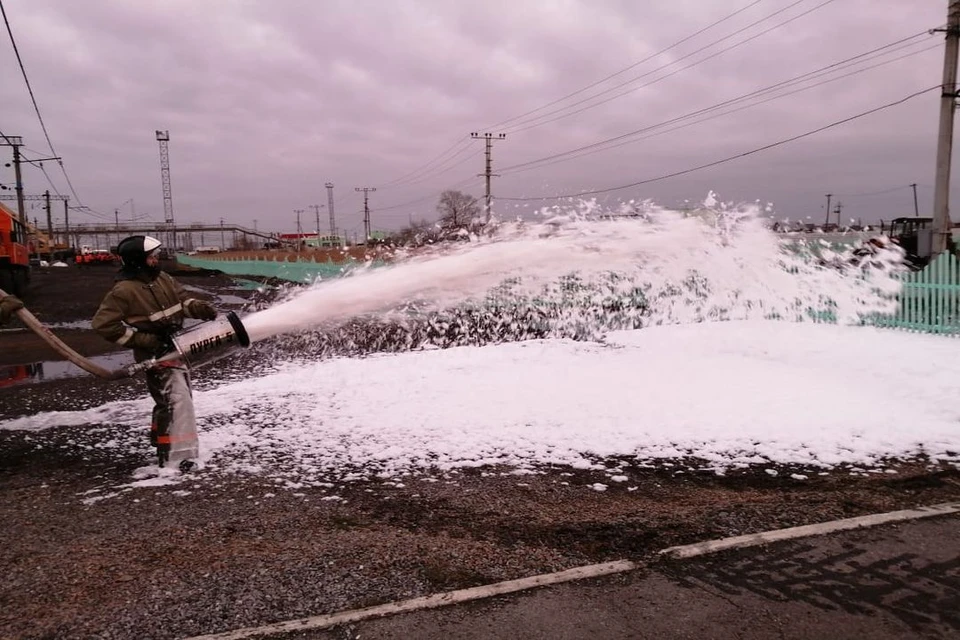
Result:
[[[482,299],[504,282],[510,295],[530,299],[570,274],[606,299],[641,291],[647,324],[802,319],[824,310],[850,323],[895,304],[897,251],[858,266],[828,250],[818,260],[788,249],[758,206],[719,204],[712,193],[692,213],[651,203],[629,209],[635,215],[616,216],[594,202],[544,209],[537,222],[504,224],[491,237],[398,254],[389,266],[318,282],[244,325],[256,341],[414,302],[442,309]],[[567,313],[587,317],[590,310],[581,304]]]

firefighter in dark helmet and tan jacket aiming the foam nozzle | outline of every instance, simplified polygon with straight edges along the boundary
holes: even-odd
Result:
[[[176,280],[160,270],[161,242],[150,236],[130,236],[117,245],[121,268],[117,282],[93,317],[93,329],[110,342],[133,349],[142,362],[168,353],[171,336],[183,319],[213,320],[217,310],[208,302],[189,297]],[[157,462],[179,464],[186,471],[199,453],[193,411],[190,372],[180,360],[147,369],[147,389],[156,406],[150,442]]]

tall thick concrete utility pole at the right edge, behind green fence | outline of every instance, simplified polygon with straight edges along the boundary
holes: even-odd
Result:
[[[945,251],[950,238],[950,156],[953,153],[953,118],[957,99],[957,50],[960,45],[960,0],[947,7],[943,88],[940,93],[940,132],[937,137],[937,177],[933,193],[932,255]]]

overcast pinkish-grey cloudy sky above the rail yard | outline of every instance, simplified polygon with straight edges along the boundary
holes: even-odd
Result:
[[[154,132],[165,129],[178,223],[256,220],[260,230],[291,231],[294,210],[304,209],[304,230],[312,231],[310,206],[326,205],[329,181],[337,226],[353,234],[363,217],[356,187],[377,187],[370,194],[375,229],[435,219],[444,189],[482,198],[476,175],[484,145],[470,139],[473,131],[507,134],[493,148],[494,170],[503,170],[495,196],[571,194],[710,163],[941,81],[943,34],[922,35],[761,96],[907,56],[789,97],[675,131],[650,130],[646,136],[660,135],[580,158],[510,169],[764,89],[946,19],[947,0],[824,2],[3,0],[3,7],[56,152],[82,203],[109,221],[114,209],[121,220],[162,220]],[[28,157],[51,155],[13,48],[5,35],[0,40],[0,131],[23,136]],[[731,106],[744,104],[752,103]],[[834,193],[845,220],[866,221],[912,215],[907,185],[917,183],[925,215],[938,109],[938,92],[930,91],[769,151],[597,197],[675,206],[712,189],[724,200],[772,202],[780,216],[820,221],[825,194]],[[46,168],[68,194],[60,170]],[[12,169],[2,168],[0,182],[12,186]],[[27,193],[49,188],[29,166],[24,184]],[[495,209],[512,215],[540,204],[501,199]],[[77,212],[73,220],[100,218]],[[325,208],[321,227],[329,227]]]

